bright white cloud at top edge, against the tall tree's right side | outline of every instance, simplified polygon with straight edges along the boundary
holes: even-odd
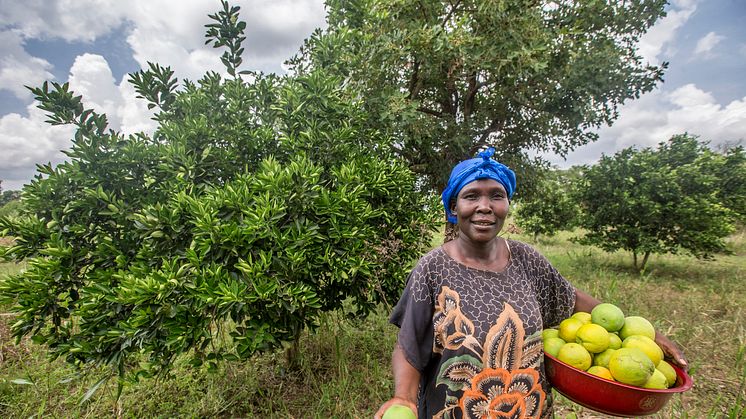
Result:
[[[673,1],[666,16],[653,25],[640,39],[639,53],[643,60],[658,64],[665,61],[660,57],[672,55],[672,44],[677,31],[689,20],[697,9],[696,0]]]

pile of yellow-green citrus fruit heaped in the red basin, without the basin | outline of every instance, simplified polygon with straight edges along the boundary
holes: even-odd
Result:
[[[613,304],[577,312],[559,328],[544,329],[542,338],[549,355],[607,380],[652,389],[676,382],[676,371],[655,343],[653,325],[640,316],[625,317]]]

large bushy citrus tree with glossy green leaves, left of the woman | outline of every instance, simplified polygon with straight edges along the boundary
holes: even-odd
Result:
[[[343,303],[364,316],[398,297],[433,202],[340,79],[242,78],[238,10],[224,2],[207,32],[232,78],[131,75],[158,110],[153,137],[108,130],[67,84],[32,89],[77,132],[68,161],[24,187],[22,217],[0,218],[16,237],[5,258],[28,261],[0,281],[15,336],[121,380],[185,353],[243,359]]]

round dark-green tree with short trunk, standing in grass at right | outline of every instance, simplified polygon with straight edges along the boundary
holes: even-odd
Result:
[[[719,157],[683,134],[657,150],[624,149],[589,167],[579,188],[582,243],[630,251],[645,269],[653,253],[725,251],[732,211],[719,198]]]

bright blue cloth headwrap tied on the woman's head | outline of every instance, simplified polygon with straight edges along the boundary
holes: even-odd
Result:
[[[458,195],[459,191],[478,179],[494,179],[505,188],[508,198],[513,197],[515,192],[515,173],[508,166],[492,160],[490,157],[495,154],[495,149],[490,147],[479,153],[479,157],[464,160],[457,164],[451,171],[451,177],[448,178],[448,185],[441,195],[443,207],[446,210],[448,222],[456,224],[456,216],[451,214],[450,203]]]

